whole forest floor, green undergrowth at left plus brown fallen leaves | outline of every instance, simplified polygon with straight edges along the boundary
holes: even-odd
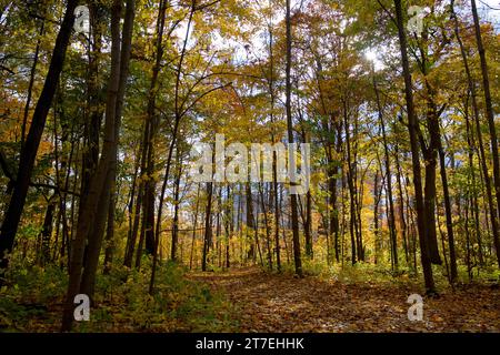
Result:
[[[76,324],[73,331],[500,332],[497,283],[460,284],[454,290],[441,285],[439,297],[424,297],[423,321],[410,322],[407,300],[422,293],[421,281],[362,266],[298,278],[259,267],[190,273],[164,264],[154,296],[146,292],[148,276],[121,270],[101,275],[91,322]],[[58,332],[62,272],[32,268],[13,280],[0,290],[0,332]]]

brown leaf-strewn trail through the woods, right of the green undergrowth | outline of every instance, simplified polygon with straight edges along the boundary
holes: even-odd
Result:
[[[197,273],[227,294],[241,332],[500,332],[500,291],[468,286],[424,297],[422,322],[408,320],[408,296],[416,285],[344,284],[296,278],[259,268]]]

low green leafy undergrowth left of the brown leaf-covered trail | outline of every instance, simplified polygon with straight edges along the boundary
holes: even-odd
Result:
[[[89,322],[74,322],[74,332],[231,332],[233,308],[222,294],[187,280],[186,268],[158,266],[156,290],[149,295],[150,260],[128,270],[117,263],[100,273]],[[12,261],[0,290],[0,332],[58,332],[68,283],[59,265]]]

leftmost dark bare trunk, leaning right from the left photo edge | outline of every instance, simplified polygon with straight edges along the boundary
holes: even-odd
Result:
[[[43,89],[34,108],[31,120],[30,130],[21,149],[19,159],[18,175],[16,178],[14,187],[10,197],[9,207],[3,219],[0,231],[0,284],[2,283],[2,274],[8,266],[6,253],[12,251],[16,233],[18,232],[19,222],[21,220],[22,210],[24,207],[26,196],[33,171],[34,160],[37,158],[40,140],[46,126],[47,115],[49,114],[56,88],[61,75],[62,65],[64,63],[66,51],[71,37],[71,29],[74,23],[74,9],[78,0],[69,0],[66,6],[64,18],[62,19],[56,45],[52,51],[49,71],[47,72]]]

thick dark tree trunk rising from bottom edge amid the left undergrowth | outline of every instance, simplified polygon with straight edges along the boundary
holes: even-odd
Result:
[[[73,298],[82,287],[81,282],[83,274],[89,272],[88,270],[86,271],[83,266],[93,268],[87,263],[86,265],[83,264],[83,251],[87,241],[89,241],[89,252],[99,256],[99,241],[102,241],[102,236],[92,234],[101,233],[101,231],[92,229],[91,226],[93,224],[92,222],[99,217],[99,212],[102,211],[104,216],[107,215],[106,212],[108,211],[110,189],[112,185],[111,179],[114,176],[113,169],[116,169],[117,164],[118,130],[121,121],[121,105],[123,103],[124,94],[124,89],[121,88],[121,84],[124,84],[124,80],[128,75],[136,1],[127,0],[122,36],[120,33],[121,12],[121,1],[114,0],[111,6],[111,72],[108,81],[104,140],[96,174],[90,181],[86,204],[80,206],[83,211],[78,220],[77,235],[72,244],[70,280],[61,324],[61,331],[63,332],[71,329],[73,321]],[[92,242],[92,244],[90,244],[90,242]],[[94,280],[94,276],[91,276],[90,280]],[[90,291],[93,288],[91,283],[84,283],[83,286]]]

